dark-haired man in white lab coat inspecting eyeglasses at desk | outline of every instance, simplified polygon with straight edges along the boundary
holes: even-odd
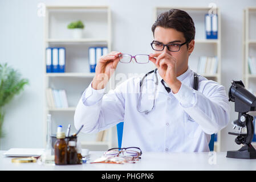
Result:
[[[141,77],[132,77],[104,94],[121,52],[101,56],[76,107],[75,127],[84,125],[82,132],[96,133],[124,122],[122,147],[209,151],[210,135],[227,126],[230,107],[224,86],[217,82],[198,76],[198,90],[193,89],[194,75],[188,67],[194,49],[193,20],[185,11],[172,9],[157,18],[152,32],[155,51],[149,60],[157,71],[141,86]]]

